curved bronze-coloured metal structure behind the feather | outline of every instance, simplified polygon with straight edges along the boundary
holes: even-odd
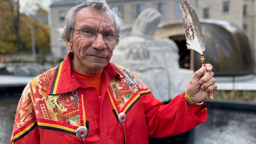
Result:
[[[214,67],[215,76],[241,76],[255,71],[254,50],[242,28],[228,21],[201,19],[204,35],[206,63]],[[158,38],[176,37],[185,41],[182,21],[159,26]],[[200,57],[194,52],[194,71],[201,67]]]

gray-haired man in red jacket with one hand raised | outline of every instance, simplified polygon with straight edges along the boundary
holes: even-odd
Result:
[[[35,77],[17,107],[11,143],[147,144],[204,122],[206,92],[216,90],[212,66],[163,105],[129,70],[110,61],[122,21],[104,0],[70,9],[60,36],[69,54]]]

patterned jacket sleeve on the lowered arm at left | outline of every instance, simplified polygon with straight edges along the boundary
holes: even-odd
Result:
[[[19,99],[10,144],[39,144],[38,125],[30,88],[29,83]]]

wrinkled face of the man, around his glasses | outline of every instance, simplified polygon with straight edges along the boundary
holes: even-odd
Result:
[[[99,32],[115,33],[114,20],[108,12],[85,7],[76,14],[73,28],[77,30],[96,29]],[[95,40],[82,40],[78,31],[73,31],[70,40],[65,40],[70,52],[74,53],[72,68],[80,73],[96,74],[110,61],[116,44],[105,43],[101,33]]]

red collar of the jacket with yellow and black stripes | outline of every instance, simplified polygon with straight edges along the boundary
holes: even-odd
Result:
[[[47,90],[47,94],[62,94],[66,92],[73,92],[78,87],[82,87],[76,76],[71,73],[71,60],[73,57],[73,53],[70,52],[67,54],[64,61],[62,61],[59,66],[56,66],[52,75],[49,89]],[[120,66],[116,66],[109,62],[109,64],[107,64],[107,66],[105,66],[103,69],[102,80],[105,78],[112,80],[115,76],[124,78],[125,75],[122,69],[123,68]]]

